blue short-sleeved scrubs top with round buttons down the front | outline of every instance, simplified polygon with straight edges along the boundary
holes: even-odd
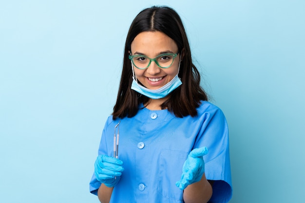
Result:
[[[223,112],[208,101],[197,108],[198,116],[177,118],[168,110],[149,110],[140,105],[132,118],[105,124],[98,154],[113,156],[114,126],[119,125],[118,158],[124,171],[111,196],[111,203],[181,203],[183,190],[175,186],[182,166],[194,148],[207,147],[205,175],[213,180],[210,202],[226,203],[232,196],[229,132]],[[90,192],[101,183],[93,174]]]

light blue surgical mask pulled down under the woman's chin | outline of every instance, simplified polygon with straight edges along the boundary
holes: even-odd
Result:
[[[133,69],[133,63],[132,63],[132,69]],[[180,69],[180,61],[179,61],[179,68],[178,68],[178,73]],[[159,89],[148,89],[140,84],[138,84],[136,77],[134,75],[133,71],[133,83],[131,88],[138,93],[145,95],[146,97],[149,97],[151,99],[160,99],[168,96],[174,89],[176,89],[178,86],[182,84],[181,80],[177,75],[173,77],[173,79],[167,83],[166,85],[160,87]]]

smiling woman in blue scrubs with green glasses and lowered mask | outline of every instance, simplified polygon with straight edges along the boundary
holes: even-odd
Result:
[[[227,121],[200,87],[185,29],[172,8],[153,6],[134,18],[98,154],[90,191],[102,203],[231,198]]]

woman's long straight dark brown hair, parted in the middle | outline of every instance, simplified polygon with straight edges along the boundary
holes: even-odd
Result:
[[[169,99],[161,104],[176,117],[183,118],[197,115],[196,108],[200,101],[207,101],[208,96],[200,86],[200,73],[191,60],[191,49],[181,18],[170,7],[153,6],[144,9],[134,19],[127,34],[123,70],[119,90],[114,105],[113,118],[133,117],[138,111],[139,103],[146,103],[149,98],[131,89],[133,82],[131,61],[128,58],[131,44],[136,35],[145,31],[160,31],[171,37],[178,46],[183,60],[178,76],[182,85],[172,91]]]

